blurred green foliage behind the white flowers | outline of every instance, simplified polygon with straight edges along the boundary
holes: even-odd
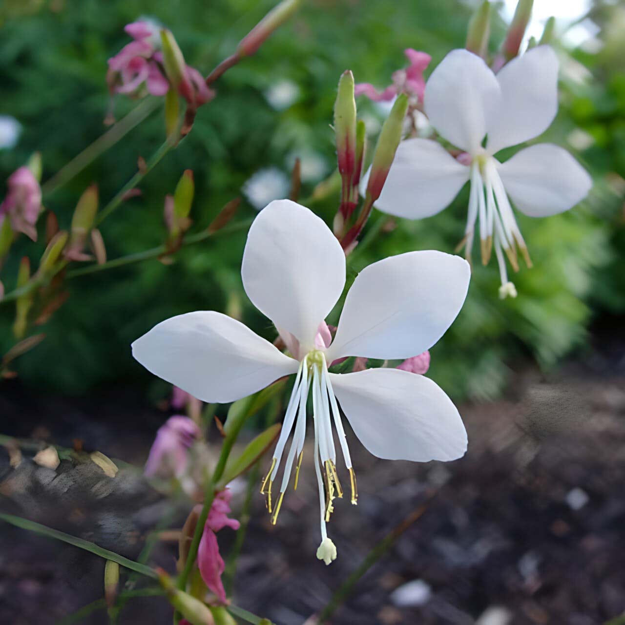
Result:
[[[272,4],[8,2],[0,39],[0,113],[19,119],[24,133],[16,148],[0,151],[0,178],[6,179],[39,150],[45,181],[103,133],[106,59],[129,41],[123,31],[128,22],[139,16],[158,19],[174,32],[187,63],[206,74],[234,51]],[[464,46],[470,14],[470,7],[456,0],[398,2],[392,9],[386,0],[306,2],[256,56],[219,79],[217,98],[199,110],[191,134],[141,184],[141,197],[124,202],[104,222],[109,258],[163,242],[163,199],[174,191],[184,169],[192,169],[196,181],[191,232],[206,227],[261,168],[276,166],[288,173],[294,156],[314,154],[322,159],[326,174],[331,173],[336,163],[329,124],[342,71],[352,69],[356,81],[384,86],[392,71],[404,65],[406,47],[432,54],[434,67],[450,49]],[[595,19],[602,25],[624,18],[622,9],[600,6]],[[491,32],[495,51],[504,34],[496,16]],[[591,171],[596,181],[591,196],[561,216],[519,216],[534,269],[522,268],[512,277],[517,299],[497,298],[494,261],[475,267],[464,309],[432,349],[431,376],[451,396],[496,396],[509,367],[530,358],[550,367],[584,345],[593,313],[625,310],[625,234],[619,212],[625,176],[625,73],[618,62],[622,44],[618,36],[613,38],[594,54],[575,51],[568,56],[561,50],[567,59],[562,106],[541,138],[570,149]],[[580,73],[576,68],[586,68],[581,80],[572,78]],[[292,106],[277,111],[265,93],[284,80],[297,84],[299,96]],[[116,98],[118,119],[136,104]],[[370,128],[372,119],[382,118],[364,99],[358,105]],[[580,136],[587,139],[582,146]],[[44,197],[45,206],[56,212],[61,227],[68,227],[76,201],[89,184],[98,183],[101,201],[108,201],[134,174],[138,157],[148,158],[163,139],[159,108],[70,183]],[[576,151],[575,146],[582,149]],[[318,182],[318,175],[305,181],[301,197],[311,194]],[[337,204],[336,194],[311,207],[331,224]],[[366,264],[389,254],[452,251],[464,229],[466,204],[464,189],[441,214],[422,221],[399,220],[392,231],[382,231],[354,254],[348,284]],[[234,219],[253,214],[243,203]],[[368,227],[381,218],[386,219],[374,211]],[[46,340],[16,361],[21,379],[62,392],[136,380],[158,394],[159,382],[132,359],[129,345],[166,317],[196,309],[240,312],[245,322],[272,339],[269,322],[242,291],[244,240],[244,233],[209,240],[183,249],[169,266],[154,260],[69,282],[71,297],[44,326]],[[22,254],[30,255],[36,266],[42,249],[42,242],[19,239],[0,275],[7,289],[14,286]],[[14,342],[13,314],[12,306],[0,306],[2,352]],[[336,311],[329,321],[336,321]]]

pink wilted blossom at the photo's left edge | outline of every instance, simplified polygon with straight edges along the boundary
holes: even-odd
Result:
[[[0,224],[5,216],[11,219],[15,232],[24,232],[37,240],[35,224],[41,211],[41,187],[27,167],[16,169],[7,181],[8,193],[0,204]]]

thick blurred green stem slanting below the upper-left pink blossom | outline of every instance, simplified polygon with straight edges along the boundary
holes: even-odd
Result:
[[[54,174],[41,186],[43,196],[49,196],[59,187],[68,183],[74,176],[81,173],[84,168],[93,163],[101,154],[112,148],[120,139],[123,139],[135,126],[138,126],[150,113],[152,113],[161,101],[158,98],[148,98],[136,106],[126,117],[118,121],[108,129],[101,137],[87,146],[78,156],[69,161],[66,166]]]

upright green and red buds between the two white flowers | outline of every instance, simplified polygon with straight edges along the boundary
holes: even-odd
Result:
[[[367,221],[373,202],[382,191],[391,168],[395,151],[402,138],[403,120],[406,117],[408,98],[400,94],[382,126],[373,156],[371,171],[361,180],[364,161],[365,126],[356,118],[354,76],[347,70],[339,80],[334,104],[334,133],[336,154],[341,174],[341,204],[334,217],[334,234],[341,241],[346,254],[356,246],[357,236]],[[367,178],[368,177],[368,178]],[[358,204],[359,191],[366,183],[365,201],[350,227],[351,217]]]

